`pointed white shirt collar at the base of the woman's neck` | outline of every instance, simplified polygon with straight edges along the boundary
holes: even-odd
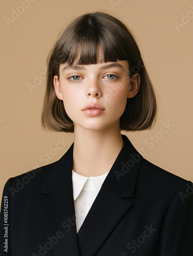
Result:
[[[95,191],[99,192],[102,183],[104,182],[108,173],[102,174],[96,177],[85,177],[77,174],[72,170],[72,184],[73,184],[73,197],[74,200],[79,196],[81,190],[84,191]]]

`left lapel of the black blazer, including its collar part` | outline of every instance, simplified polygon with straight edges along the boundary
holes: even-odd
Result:
[[[73,144],[55,163],[38,200],[48,236],[56,256],[79,256],[72,187]],[[45,238],[46,240],[46,238]],[[49,240],[46,240],[48,242]]]

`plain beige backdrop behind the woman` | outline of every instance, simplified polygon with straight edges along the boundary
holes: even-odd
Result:
[[[94,10],[115,13],[132,28],[159,95],[155,128],[124,134],[146,159],[193,181],[192,1],[2,0],[0,9],[0,196],[8,178],[56,161],[73,142],[73,134],[40,127],[46,57],[63,25]]]

